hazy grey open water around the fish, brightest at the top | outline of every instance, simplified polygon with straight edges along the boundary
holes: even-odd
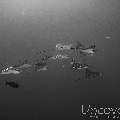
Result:
[[[70,69],[69,60],[50,61],[47,71],[0,76],[1,86],[5,80],[21,84],[18,89],[0,87],[0,119],[78,120],[82,104],[119,106],[119,32],[119,0],[1,0],[2,65],[32,61],[36,51],[53,52],[57,43],[95,42],[96,55],[81,59],[104,77],[85,80]],[[83,79],[76,82],[79,76]]]

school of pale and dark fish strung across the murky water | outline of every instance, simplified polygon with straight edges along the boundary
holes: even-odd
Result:
[[[33,62],[29,61],[29,59],[25,59],[22,62],[18,62],[17,64],[10,65],[7,67],[1,68],[0,76],[4,75],[18,75],[22,74],[25,70],[34,69],[35,72],[47,71],[49,69],[48,61],[64,61],[70,60],[69,68],[73,71],[81,71],[85,69],[85,79],[94,79],[94,78],[103,78],[102,72],[92,70],[90,68],[91,65],[86,63],[82,63],[77,60],[79,57],[86,57],[86,56],[94,56],[98,49],[96,49],[96,45],[89,45],[85,47],[79,41],[76,42],[76,45],[73,44],[56,44],[54,48],[55,53],[47,54],[46,50],[38,51],[39,54],[38,58],[36,58]],[[66,53],[72,52],[74,55]],[[81,55],[81,56],[79,56]],[[4,66],[4,65],[2,65]],[[65,65],[62,65],[65,66]],[[79,78],[78,78],[79,79]],[[12,88],[18,88],[19,84],[16,81],[5,81],[6,86],[10,86]]]

